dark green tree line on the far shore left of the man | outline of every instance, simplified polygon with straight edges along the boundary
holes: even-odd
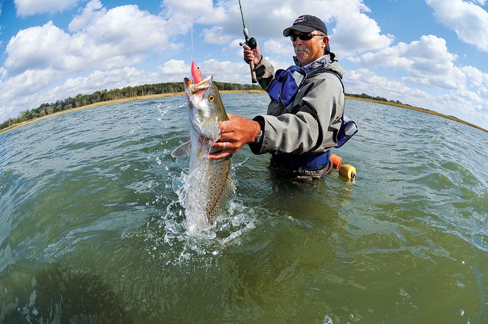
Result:
[[[262,90],[260,86],[254,84],[239,84],[214,81],[219,90]],[[29,121],[35,118],[43,117],[59,111],[78,108],[93,103],[130,99],[139,96],[159,95],[166,93],[183,92],[183,82],[166,82],[156,84],[144,84],[138,86],[126,86],[122,89],[104,89],[95,91],[91,95],[79,94],[76,97],[68,97],[52,103],[42,103],[39,107],[21,111],[19,116],[9,118],[0,124],[0,130],[10,127],[13,124]]]

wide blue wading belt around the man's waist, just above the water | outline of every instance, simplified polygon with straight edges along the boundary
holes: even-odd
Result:
[[[330,160],[330,151],[310,155],[272,154],[271,160],[273,163],[288,170],[303,168],[307,171],[316,171],[327,166]]]

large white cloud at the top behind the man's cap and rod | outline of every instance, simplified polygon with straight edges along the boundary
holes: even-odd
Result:
[[[188,3],[179,0],[164,0],[163,5],[170,9],[164,11],[165,17],[188,16]],[[193,8],[194,23],[208,25],[203,32],[205,41],[223,44],[243,37],[239,3],[233,1],[197,1]],[[246,8],[260,8],[247,10]],[[363,52],[387,47],[393,36],[381,34],[375,20],[366,16],[369,8],[358,0],[312,0],[312,1],[258,1],[243,2],[244,20],[249,36],[258,41],[282,41],[283,30],[290,26],[299,14],[310,12],[325,21],[330,35],[332,51],[340,56],[343,53]],[[271,13],[271,14],[270,14]],[[354,21],[354,23],[351,23]],[[330,26],[335,23],[335,27]],[[290,43],[291,48],[291,43]],[[283,55],[283,54],[282,54]],[[289,51],[286,51],[289,55]]]

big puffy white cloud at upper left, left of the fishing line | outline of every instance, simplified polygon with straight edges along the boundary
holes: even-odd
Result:
[[[120,68],[142,60],[148,52],[175,50],[169,35],[184,33],[136,5],[110,10],[93,0],[73,18],[68,34],[52,21],[20,30],[6,47],[5,69],[14,76],[28,69],[52,68],[59,78],[89,69]]]

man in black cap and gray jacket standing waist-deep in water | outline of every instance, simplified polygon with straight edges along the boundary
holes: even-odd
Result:
[[[279,78],[275,79],[276,72],[261,55],[259,44],[253,50],[244,46],[244,61],[254,62],[259,84],[270,97],[272,88],[281,93],[272,98],[267,115],[247,120],[228,114],[229,120],[220,124],[221,138],[214,145],[221,151],[208,158],[227,157],[249,144],[254,154],[271,153],[270,169],[280,175],[304,180],[322,178],[332,170],[329,150],[337,145],[344,118],[340,80],[344,69],[330,52],[327,28],[319,18],[300,16],[283,35],[293,43],[295,64],[301,68],[296,70],[306,72],[304,80],[298,82],[298,91],[289,90]],[[287,104],[281,96],[290,91],[295,93]]]

